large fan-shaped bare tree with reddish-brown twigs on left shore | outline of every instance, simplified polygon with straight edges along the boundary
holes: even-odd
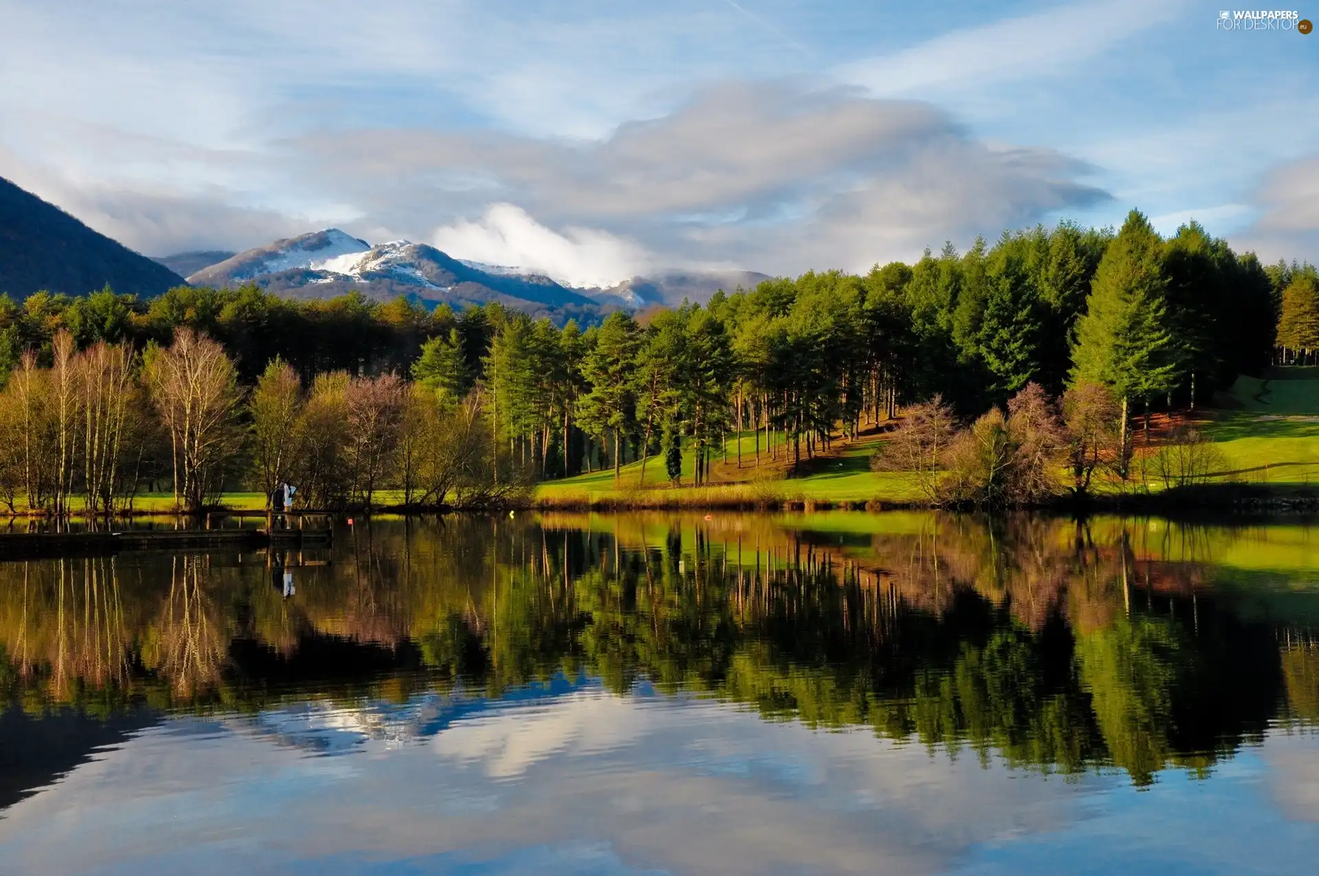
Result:
[[[241,443],[233,363],[206,335],[179,328],[168,350],[148,351],[145,373],[170,435],[174,503],[200,511],[219,495]]]

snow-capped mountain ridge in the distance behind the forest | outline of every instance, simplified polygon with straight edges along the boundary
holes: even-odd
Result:
[[[289,298],[331,298],[350,290],[388,299],[406,296],[430,305],[499,301],[532,313],[588,313],[599,303],[541,274],[481,270],[434,247],[393,240],[372,247],[327,228],[240,252],[190,274],[206,286],[257,285]]]

